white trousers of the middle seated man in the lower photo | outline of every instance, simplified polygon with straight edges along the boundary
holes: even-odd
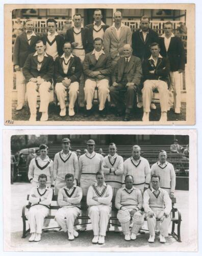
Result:
[[[106,236],[111,207],[100,204],[88,208],[94,236]]]

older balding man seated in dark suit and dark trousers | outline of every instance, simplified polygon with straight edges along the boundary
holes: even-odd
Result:
[[[130,120],[130,113],[134,107],[134,101],[140,79],[142,76],[142,64],[138,57],[132,55],[130,45],[123,46],[124,57],[121,57],[112,72],[112,86],[110,87],[111,106],[116,106],[118,116],[125,113],[123,121]],[[120,92],[125,94],[125,104]],[[125,109],[125,111],[124,111]]]

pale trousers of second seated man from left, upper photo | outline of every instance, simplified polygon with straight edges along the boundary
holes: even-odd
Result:
[[[65,105],[66,90],[68,90],[68,93],[69,93],[69,108],[73,109],[74,103],[77,100],[77,95],[79,93],[79,83],[78,82],[70,83],[70,86],[68,87],[68,89],[66,89],[66,87],[63,86],[62,82],[56,83],[56,95],[57,95],[58,101],[60,102],[61,109],[64,109],[66,107]]]

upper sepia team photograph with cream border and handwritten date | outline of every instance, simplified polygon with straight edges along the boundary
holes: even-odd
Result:
[[[5,124],[195,123],[193,4],[52,7],[5,5]]]

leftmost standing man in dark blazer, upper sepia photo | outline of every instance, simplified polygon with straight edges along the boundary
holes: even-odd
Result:
[[[34,32],[34,22],[31,19],[26,20],[24,25],[25,31],[16,37],[13,50],[13,65],[16,71],[16,89],[17,89],[17,108],[21,110],[24,98],[24,77],[22,67],[30,53],[35,52],[35,44],[39,40]]]

